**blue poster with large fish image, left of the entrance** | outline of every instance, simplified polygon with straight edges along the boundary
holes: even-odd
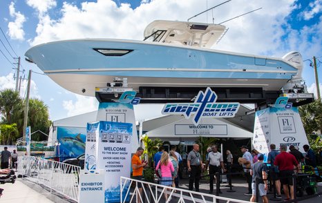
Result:
[[[57,140],[60,143],[57,156],[59,155],[61,158],[78,157],[85,153],[86,128],[58,126]]]

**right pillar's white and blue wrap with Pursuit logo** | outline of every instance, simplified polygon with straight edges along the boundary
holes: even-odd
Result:
[[[276,149],[281,144],[297,146],[304,153],[303,145],[308,142],[298,108],[269,107],[257,111],[252,144],[265,154],[265,161],[270,144],[275,144]]]

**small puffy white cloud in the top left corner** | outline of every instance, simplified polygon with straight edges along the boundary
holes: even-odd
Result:
[[[11,39],[23,40],[25,32],[23,31],[23,23],[26,21],[26,17],[21,12],[16,12],[15,3],[11,2],[9,5],[10,17],[15,19],[13,22],[8,23],[8,35]]]

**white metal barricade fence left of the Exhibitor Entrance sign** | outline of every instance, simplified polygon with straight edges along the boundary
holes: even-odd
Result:
[[[75,201],[79,200],[79,171],[79,166],[53,160],[30,156],[18,157],[18,175],[47,186],[50,193],[55,191]]]

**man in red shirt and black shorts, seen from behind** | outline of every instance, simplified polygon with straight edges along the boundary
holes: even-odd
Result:
[[[294,173],[294,166],[296,166],[296,170],[299,170],[300,165],[297,162],[294,155],[287,153],[287,146],[281,145],[281,153],[279,153],[274,161],[274,165],[278,166],[278,170],[280,171],[280,180],[281,184],[283,185],[283,191],[286,195],[285,200],[290,200],[290,193],[291,199],[294,200],[294,186],[292,181],[292,175]],[[290,191],[288,189],[290,186]]]

